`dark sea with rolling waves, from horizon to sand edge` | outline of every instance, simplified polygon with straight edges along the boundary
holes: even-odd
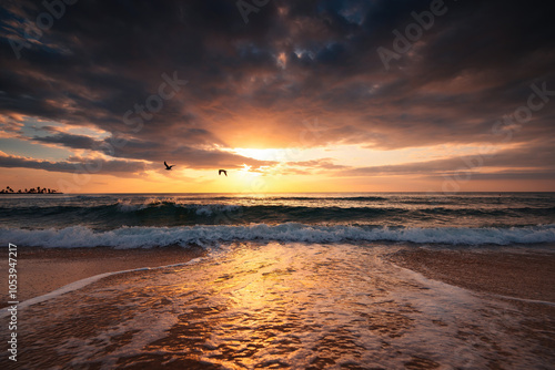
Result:
[[[0,197],[0,238],[41,246],[218,240],[555,241],[555,193],[83,194]]]

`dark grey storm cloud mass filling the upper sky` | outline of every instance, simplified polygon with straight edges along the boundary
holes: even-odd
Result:
[[[386,71],[377,48],[393,50],[393,31],[404,34],[411,13],[431,3],[275,0],[245,23],[235,1],[81,0],[17,59],[9,40],[21,41],[46,9],[8,1],[0,12],[0,114],[94,125],[129,140],[117,157],[172,157],[192,167],[248,163],[221,148],[249,136],[290,146],[305,116],[327,127],[313,145],[497,140],[492,126],[526,105],[531,84],[555,90],[554,6],[446,0],[445,13]],[[142,117],[140,130],[125,124],[125,112],[160,94],[164,73],[189,83]],[[548,99],[512,142],[553,136],[555,96]],[[68,134],[32,140],[98,144]]]

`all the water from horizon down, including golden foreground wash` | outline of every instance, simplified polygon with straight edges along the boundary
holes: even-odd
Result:
[[[555,193],[24,194],[0,197],[0,222],[19,253],[204,251],[21,302],[2,368],[554,369],[555,302],[387,257],[554,254]]]

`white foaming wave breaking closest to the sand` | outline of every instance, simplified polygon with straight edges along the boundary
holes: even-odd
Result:
[[[311,226],[297,223],[245,226],[121,227],[99,232],[84,226],[62,229],[29,230],[1,228],[0,240],[40,247],[117,247],[144,248],[191,244],[211,245],[220,241],[410,241],[447,245],[508,245],[555,241],[555,225],[529,227],[433,227],[390,228],[366,226]]]

